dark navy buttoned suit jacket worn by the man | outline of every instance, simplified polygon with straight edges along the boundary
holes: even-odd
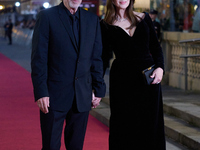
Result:
[[[76,99],[80,112],[91,109],[92,90],[104,97],[102,41],[99,19],[80,9],[80,48],[61,3],[41,11],[32,41],[35,100],[50,97],[50,108],[68,111]]]

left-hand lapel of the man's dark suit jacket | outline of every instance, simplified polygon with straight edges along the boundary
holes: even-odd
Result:
[[[77,45],[76,45],[76,41],[75,41],[75,38],[74,38],[74,35],[73,35],[73,31],[72,31],[71,28],[70,28],[70,23],[69,23],[69,21],[68,21],[68,19],[67,19],[67,14],[66,14],[65,9],[64,9],[63,7],[64,7],[64,6],[63,6],[63,4],[61,3],[61,4],[59,5],[59,17],[60,17],[60,20],[62,21],[62,23],[63,23],[65,29],[67,30],[67,32],[68,32],[68,34],[69,34],[69,36],[70,36],[70,38],[71,38],[71,40],[72,40],[72,43],[73,43],[73,45],[74,45],[74,47],[75,47],[75,49],[76,49],[76,52],[78,52],[78,47],[77,47]],[[82,38],[82,37],[81,37],[81,38]]]

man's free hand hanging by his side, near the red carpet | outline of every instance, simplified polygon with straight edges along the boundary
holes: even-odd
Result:
[[[38,99],[37,105],[43,113],[47,114],[49,112],[48,107],[50,107],[49,97],[43,97],[43,98]]]

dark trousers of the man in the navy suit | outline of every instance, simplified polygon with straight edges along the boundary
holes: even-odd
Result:
[[[49,109],[48,114],[40,111],[42,150],[60,150],[64,121],[64,137],[67,150],[82,150],[88,122],[88,112],[78,112],[73,104],[68,112]]]

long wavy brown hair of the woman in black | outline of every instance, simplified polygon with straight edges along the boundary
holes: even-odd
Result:
[[[131,21],[131,25],[127,29],[132,29],[139,22],[137,17],[133,13],[133,4],[134,3],[135,3],[135,0],[130,0],[130,4],[126,8],[126,11],[125,11],[126,16]],[[117,14],[116,14],[116,6],[113,4],[113,0],[107,0],[106,14],[105,14],[104,21],[106,23],[112,25],[114,23],[115,19],[116,19],[116,16],[117,16]]]

